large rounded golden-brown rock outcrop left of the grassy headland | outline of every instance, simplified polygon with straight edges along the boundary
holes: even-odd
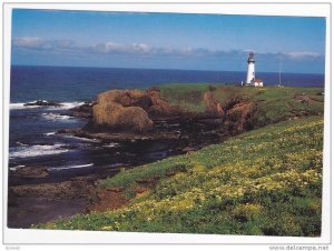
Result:
[[[149,131],[151,118],[175,116],[181,112],[160,97],[158,89],[110,90],[100,93],[92,107],[92,120],[88,128]],[[87,127],[86,127],[87,128]]]

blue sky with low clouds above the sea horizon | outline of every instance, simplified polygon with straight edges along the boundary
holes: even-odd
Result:
[[[14,9],[11,63],[324,73],[325,19]]]

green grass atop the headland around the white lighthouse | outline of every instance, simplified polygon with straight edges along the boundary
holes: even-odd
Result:
[[[318,94],[322,88],[299,88],[299,87],[237,87],[227,84],[167,84],[158,87],[164,97],[173,106],[179,106],[190,112],[205,112],[206,106],[203,96],[214,87],[214,98],[224,104],[232,97],[243,97],[246,102],[257,103],[254,124],[255,128],[276,123],[288,118],[298,116],[301,112],[310,114],[323,114],[324,97]],[[295,99],[296,94],[310,94],[311,102],[302,103]]]

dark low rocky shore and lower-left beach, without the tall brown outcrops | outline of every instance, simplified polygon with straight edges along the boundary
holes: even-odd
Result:
[[[207,144],[220,141],[219,131],[212,128],[212,124],[216,124],[217,127],[216,120],[197,121],[197,123],[184,120],[177,123],[177,120],[173,119],[159,122],[156,121],[156,129],[154,131],[146,133],[131,131],[114,133],[87,132],[82,129],[68,129],[58,133],[97,139],[100,140],[101,144],[117,142],[119,144],[127,144],[129,148],[135,144],[145,145],[150,142],[166,143],[168,141],[170,143],[168,149],[166,149],[167,155],[195,151]],[[188,128],[189,124],[193,124],[191,131]],[[119,158],[122,158],[121,152],[119,152]],[[134,164],[131,167],[146,163],[145,160],[141,160],[140,155],[124,155],[124,158],[132,159]],[[89,210],[95,210],[95,204],[97,204],[96,202],[100,198],[97,194],[96,184],[99,180],[115,175],[118,171],[119,168],[109,169],[106,167],[105,169],[99,168],[94,173],[72,178],[52,177],[52,173],[45,167],[24,167],[16,171],[10,171],[8,227],[29,228],[30,224],[53,220],[59,215],[67,217],[73,213],[85,213]],[[69,203],[72,203],[72,205],[69,205]],[[72,208],[72,210],[66,210],[66,207]],[[59,214],[55,214],[53,208],[58,208]]]

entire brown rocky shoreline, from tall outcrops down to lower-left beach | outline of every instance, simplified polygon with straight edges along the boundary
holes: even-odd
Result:
[[[161,142],[165,149],[158,159],[163,159],[219,143],[253,128],[252,112],[256,103],[247,103],[242,97],[233,97],[222,104],[214,100],[210,91],[203,99],[206,111],[191,113],[170,106],[157,89],[111,90],[98,96],[96,101],[70,109],[71,116],[88,120],[84,128],[63,129],[57,133],[99,140],[100,143],[127,144],[129,148],[144,145],[144,152],[147,143]],[[58,104],[37,101],[27,106]],[[120,158],[121,154],[119,152]],[[148,162],[140,159],[140,155],[131,158],[131,167]],[[99,198],[95,189],[98,180],[115,175],[118,171],[117,168],[106,168],[99,172],[69,178],[52,177],[43,167],[11,171],[8,227],[29,228],[32,223],[53,220],[59,215],[67,217],[75,211],[87,212]],[[62,204],[70,202],[75,205],[66,210]],[[27,203],[30,203],[30,208],[26,209]],[[60,208],[59,213],[50,210],[49,205],[52,204],[56,209]],[[41,217],[43,213],[45,217]]]

